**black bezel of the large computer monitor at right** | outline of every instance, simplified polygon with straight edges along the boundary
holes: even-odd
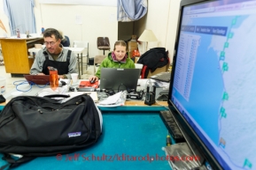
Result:
[[[186,133],[193,141],[193,144],[196,144],[198,146],[198,149],[202,153],[202,155],[205,157],[206,161],[212,166],[213,169],[223,169],[221,166],[221,163],[213,156],[213,153],[210,152],[210,150],[207,148],[206,144],[202,141],[200,137],[198,137],[198,134],[196,131],[190,126],[190,123],[186,121],[186,119],[183,117],[183,115],[180,113],[177,107],[175,107],[175,104],[172,102],[170,97],[172,96],[172,89],[173,85],[172,82],[174,82],[174,76],[175,76],[175,63],[176,63],[176,55],[177,55],[177,48],[179,44],[179,38],[180,38],[180,28],[182,26],[182,11],[185,7],[194,5],[194,4],[203,4],[203,3],[210,3],[210,2],[217,2],[219,0],[182,0],[180,3],[180,9],[179,9],[179,17],[177,22],[177,32],[175,36],[175,52],[173,56],[173,65],[172,65],[172,73],[170,78],[170,85],[169,85],[169,93],[168,93],[168,107],[172,114],[175,117],[175,121],[182,126],[181,130],[184,130],[184,133]],[[187,141],[188,142],[188,141]]]

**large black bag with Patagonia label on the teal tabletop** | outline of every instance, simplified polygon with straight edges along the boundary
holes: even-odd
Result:
[[[101,122],[100,111],[86,94],[63,103],[47,97],[19,96],[0,113],[0,152],[10,167],[36,157],[75,152],[97,142]],[[23,157],[14,160],[9,153]]]

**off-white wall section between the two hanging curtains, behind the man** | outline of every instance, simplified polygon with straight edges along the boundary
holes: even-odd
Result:
[[[56,28],[69,37],[71,44],[89,41],[89,57],[103,54],[97,49],[97,37],[109,37],[111,44],[117,41],[118,21],[114,6],[39,4],[35,1],[36,30],[41,32],[42,26]]]

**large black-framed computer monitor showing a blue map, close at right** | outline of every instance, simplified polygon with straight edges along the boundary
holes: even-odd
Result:
[[[182,0],[168,97],[214,169],[256,169],[255,0]]]

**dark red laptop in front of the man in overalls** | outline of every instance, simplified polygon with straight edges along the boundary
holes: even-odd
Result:
[[[29,85],[50,85],[50,75],[23,75]]]

